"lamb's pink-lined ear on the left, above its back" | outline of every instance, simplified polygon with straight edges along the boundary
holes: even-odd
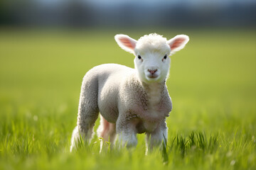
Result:
[[[117,34],[114,36],[114,40],[125,51],[134,53],[137,40],[130,38],[128,35]]]

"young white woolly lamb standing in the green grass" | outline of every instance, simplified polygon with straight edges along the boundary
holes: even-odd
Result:
[[[166,40],[156,33],[134,40],[115,35],[117,44],[135,55],[135,69],[119,64],[93,67],[82,81],[78,123],[73,130],[70,152],[80,137],[90,141],[100,112],[98,137],[119,141],[121,146],[137,145],[137,133],[146,133],[146,148],[159,146],[167,137],[166,117],[172,109],[166,79],[170,55],[185,47],[187,35]]]

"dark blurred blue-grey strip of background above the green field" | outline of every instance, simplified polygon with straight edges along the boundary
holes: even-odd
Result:
[[[255,0],[2,0],[0,25],[32,28],[255,27]]]

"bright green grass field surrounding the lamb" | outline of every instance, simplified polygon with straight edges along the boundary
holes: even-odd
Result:
[[[100,154],[95,136],[69,152],[84,74],[133,67],[114,32],[0,30],[0,169],[256,169],[255,30],[158,33],[191,40],[171,56],[166,150],[145,156],[144,135],[136,149],[105,143]]]

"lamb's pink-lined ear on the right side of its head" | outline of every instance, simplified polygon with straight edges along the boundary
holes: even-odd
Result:
[[[176,35],[174,38],[171,38],[171,40],[168,40],[167,44],[171,48],[171,54],[174,54],[174,52],[183,49],[188,40],[188,35]]]

